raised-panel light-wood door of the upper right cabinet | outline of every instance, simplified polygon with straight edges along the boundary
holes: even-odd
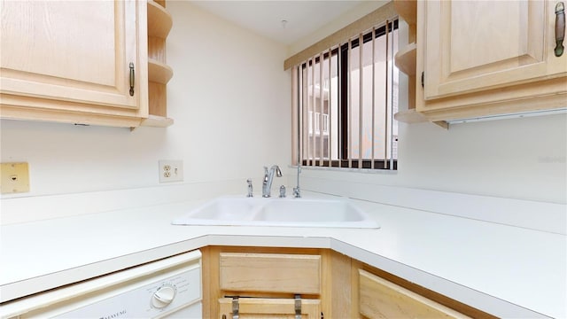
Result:
[[[554,6],[549,1],[420,4],[423,98],[565,76],[567,54],[554,54]]]

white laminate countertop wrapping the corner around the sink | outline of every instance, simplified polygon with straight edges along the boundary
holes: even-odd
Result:
[[[353,202],[381,228],[170,224],[202,200],[4,225],[0,298],[12,300],[206,245],[261,245],[331,248],[493,315],[567,317],[565,235]]]

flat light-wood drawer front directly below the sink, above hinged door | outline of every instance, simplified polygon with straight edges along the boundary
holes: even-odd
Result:
[[[321,292],[321,256],[221,253],[221,290],[236,292]]]

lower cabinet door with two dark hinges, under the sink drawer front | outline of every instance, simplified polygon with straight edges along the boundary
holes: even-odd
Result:
[[[320,300],[301,300],[301,318],[319,319],[321,316],[320,304]],[[232,308],[232,298],[219,299],[220,319],[232,319],[235,315]],[[238,299],[238,318],[295,319],[295,300],[240,298]]]

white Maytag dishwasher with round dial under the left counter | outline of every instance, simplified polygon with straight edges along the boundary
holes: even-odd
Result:
[[[1,318],[201,318],[201,253],[193,251],[0,305]]]

